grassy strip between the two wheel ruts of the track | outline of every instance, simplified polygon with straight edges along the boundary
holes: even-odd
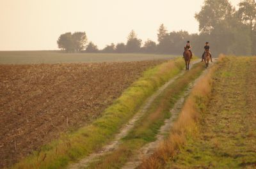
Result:
[[[123,143],[116,151],[92,163],[89,168],[106,169],[120,168],[138,149],[146,143],[156,140],[159,128],[164,124],[164,120],[170,117],[170,108],[173,107],[177,99],[183,94],[190,82],[193,82],[204,70],[204,65],[199,63],[193,66],[182,77],[177,78],[172,85],[168,86],[162,94],[152,103],[149,110],[131,132],[124,138]]]

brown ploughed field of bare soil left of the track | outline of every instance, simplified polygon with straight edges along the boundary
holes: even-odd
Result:
[[[89,124],[161,62],[0,65],[0,168]]]

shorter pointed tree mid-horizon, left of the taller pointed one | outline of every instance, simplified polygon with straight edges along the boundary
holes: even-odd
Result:
[[[141,40],[137,38],[133,30],[128,35],[126,47],[127,52],[140,52]]]

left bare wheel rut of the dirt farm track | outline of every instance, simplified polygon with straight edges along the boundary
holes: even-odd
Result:
[[[191,64],[191,67],[193,66],[193,64],[196,64],[197,62],[198,61],[193,62]],[[86,168],[86,166],[88,166],[89,163],[96,161],[98,158],[106,155],[109,152],[115,151],[115,149],[118,147],[118,145],[120,145],[120,143],[122,143],[122,138],[127,136],[129,131],[131,131],[131,129],[134,128],[136,121],[138,121],[145,114],[145,112],[147,112],[148,108],[150,107],[152,102],[157,98],[157,96],[159,96],[159,94],[161,94],[161,92],[163,92],[164,89],[166,89],[169,85],[171,85],[173,82],[175,82],[175,80],[177,80],[177,78],[184,75],[185,72],[186,71],[180,72],[179,75],[176,75],[174,78],[170,79],[168,82],[166,82],[166,84],[164,84],[162,87],[160,87],[157,92],[152,94],[152,96],[150,96],[147,99],[147,101],[145,101],[144,105],[140,108],[138,113],[135,114],[134,117],[132,117],[132,119],[129,122],[127,122],[127,124],[125,124],[122,129],[120,129],[120,132],[115,136],[115,139],[111,143],[104,146],[101,151],[90,154],[90,156],[88,156],[84,159],[81,159],[78,163],[70,164],[67,168],[68,169]]]

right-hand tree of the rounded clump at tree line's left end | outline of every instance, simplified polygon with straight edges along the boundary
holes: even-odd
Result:
[[[74,45],[74,50],[76,52],[81,52],[86,47],[87,36],[84,32],[76,32],[72,34],[72,40]]]

